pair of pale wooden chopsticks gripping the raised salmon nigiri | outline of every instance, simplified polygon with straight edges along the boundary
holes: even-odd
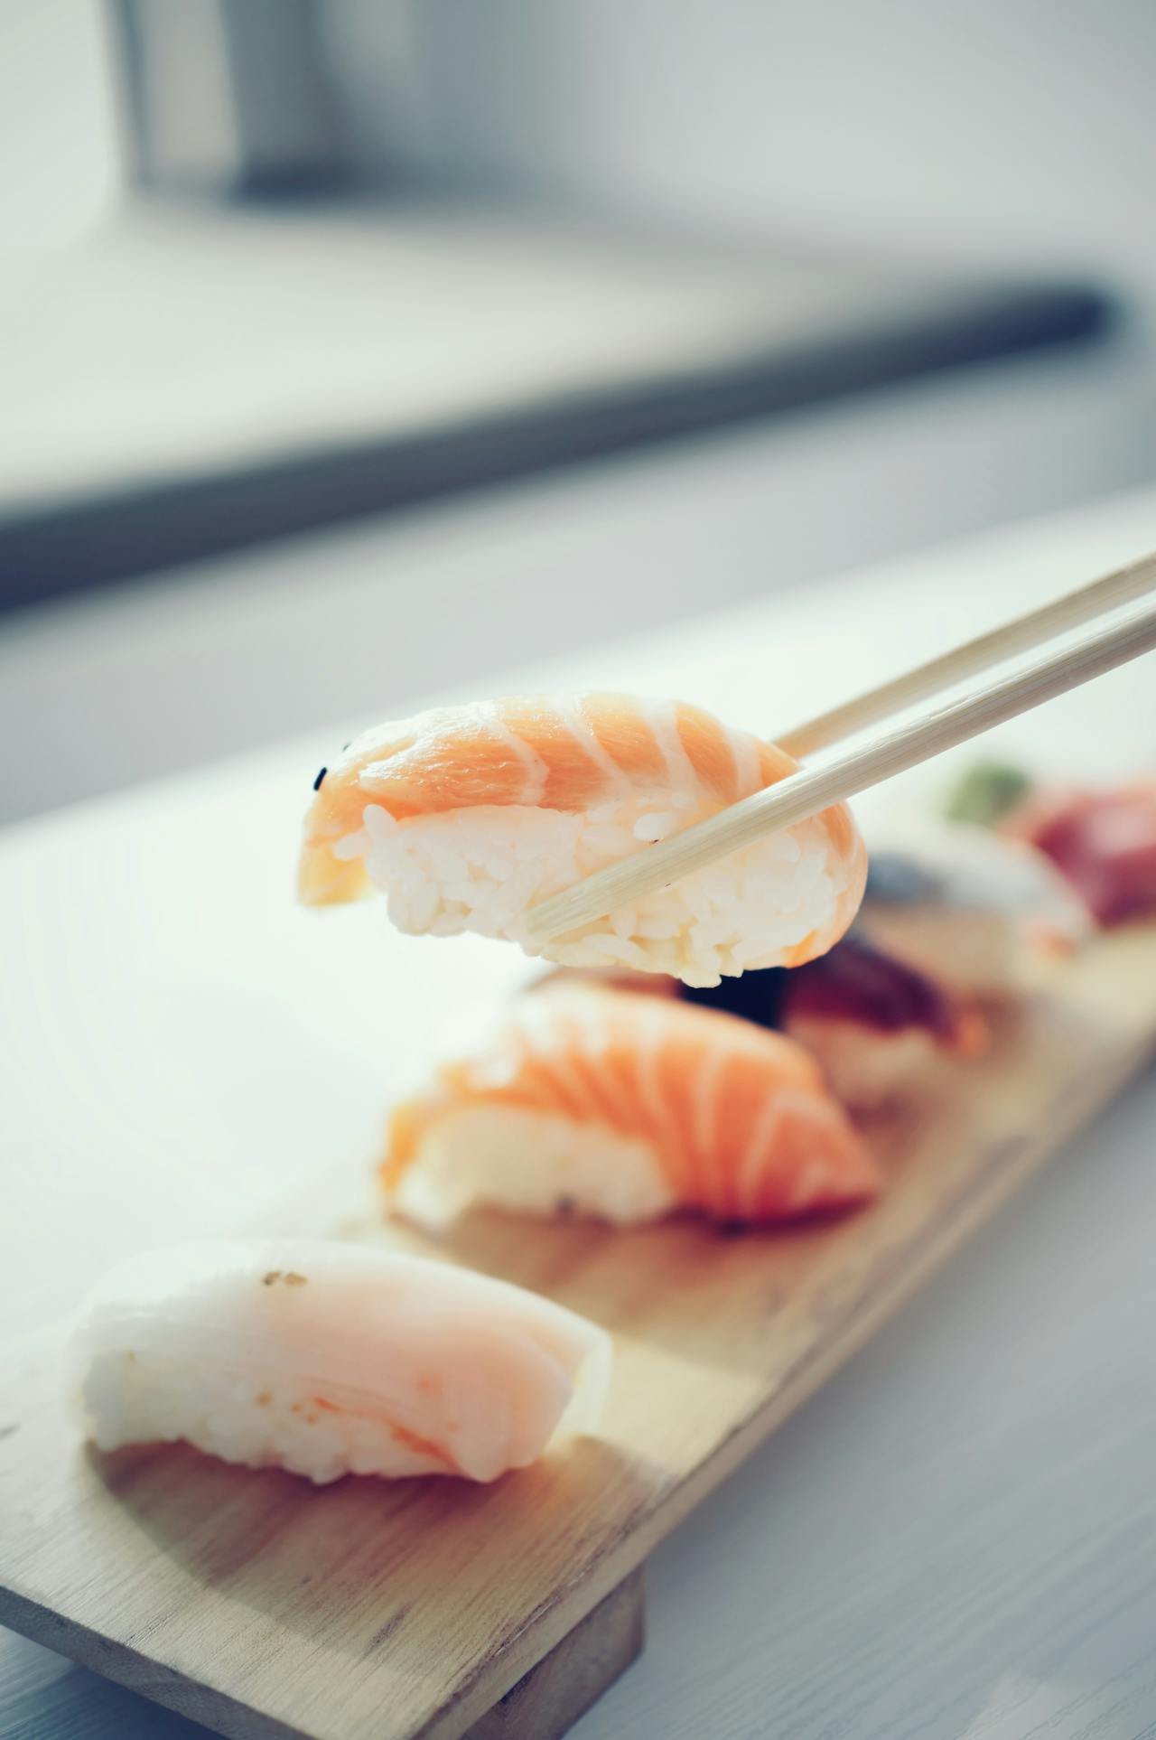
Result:
[[[1156,552],[1005,623],[1003,628],[968,640],[953,652],[812,719],[777,741],[793,755],[827,746],[928,694],[953,687],[968,675],[1003,663],[1015,652],[1113,611],[1154,586]],[[567,931],[593,924],[605,914],[668,887],[767,833],[805,821],[829,804],[890,780],[892,774],[954,748],[956,743],[965,743],[991,726],[1066,694],[1067,689],[1090,682],[1092,677],[1100,677],[1142,652],[1151,652],[1153,647],[1156,647],[1156,607],[1099,626],[1074,644],[1041,654],[1008,677],[932,708],[819,767],[801,767],[787,780],[720,811],[718,816],[699,821],[647,847],[645,853],[624,858],[622,863],[598,870],[561,894],[544,900],[527,914],[527,941],[541,948],[551,936],[563,936]]]

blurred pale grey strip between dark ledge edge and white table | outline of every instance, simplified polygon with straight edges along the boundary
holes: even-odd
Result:
[[[21,612],[0,741],[35,720],[37,752],[9,757],[0,825],[292,733],[342,741],[435,693],[504,693],[560,652],[605,687],[608,639],[1137,482],[1153,421],[1123,348],[1010,364]]]

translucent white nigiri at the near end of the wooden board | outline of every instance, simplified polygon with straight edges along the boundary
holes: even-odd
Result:
[[[494,1481],[593,1425],[610,1340],[447,1263],[257,1239],[120,1263],[83,1303],[68,1366],[99,1449],[183,1439],[318,1484]]]

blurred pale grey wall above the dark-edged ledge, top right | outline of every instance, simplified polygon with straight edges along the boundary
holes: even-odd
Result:
[[[1156,284],[1153,0],[329,0],[327,19],[379,169],[403,150],[695,224]]]

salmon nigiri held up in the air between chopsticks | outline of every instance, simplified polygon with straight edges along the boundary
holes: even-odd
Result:
[[[367,731],[322,769],[299,893],[323,905],[375,887],[402,931],[525,947],[528,907],[794,769],[681,701],[555,694],[440,708]],[[702,985],[796,966],[843,934],[866,868],[836,804],[544,954]]]

